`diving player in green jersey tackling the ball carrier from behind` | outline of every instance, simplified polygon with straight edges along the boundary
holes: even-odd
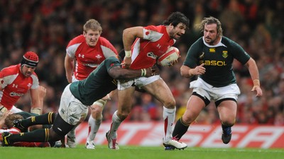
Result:
[[[45,142],[59,141],[80,121],[84,112],[94,101],[104,98],[107,93],[117,88],[114,79],[131,79],[141,76],[155,76],[158,67],[133,70],[122,69],[121,61],[116,57],[108,57],[87,78],[66,86],[60,100],[58,115],[51,129],[36,129],[35,131],[0,136],[3,146],[9,146],[17,141]],[[36,121],[40,116],[35,117]]]

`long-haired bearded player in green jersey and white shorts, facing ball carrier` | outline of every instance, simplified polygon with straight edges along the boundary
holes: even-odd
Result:
[[[217,18],[204,18],[200,23],[200,31],[203,36],[190,47],[180,68],[182,76],[198,78],[190,83],[192,95],[185,113],[175,124],[173,136],[179,140],[202,109],[213,100],[222,122],[222,141],[229,143],[231,126],[236,120],[236,101],[240,94],[232,63],[236,59],[247,66],[253,80],[251,91],[256,92],[256,97],[262,95],[258,67],[240,45],[222,36],[222,24]]]

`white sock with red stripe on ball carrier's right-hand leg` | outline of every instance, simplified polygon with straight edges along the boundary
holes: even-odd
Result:
[[[164,142],[170,141],[173,138],[173,124],[175,122],[175,108],[168,109],[163,107],[163,119],[164,119]]]

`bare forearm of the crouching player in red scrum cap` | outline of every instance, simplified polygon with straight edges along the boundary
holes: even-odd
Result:
[[[43,111],[43,98],[46,94],[46,89],[39,86],[36,89],[31,89],[31,112],[35,114],[42,114]]]

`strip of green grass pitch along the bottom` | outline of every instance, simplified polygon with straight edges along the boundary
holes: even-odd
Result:
[[[114,151],[107,146],[88,150],[80,145],[77,148],[0,147],[0,155],[3,159],[280,159],[284,158],[284,149],[185,148],[181,151],[164,151],[162,146],[120,146],[118,151]]]

